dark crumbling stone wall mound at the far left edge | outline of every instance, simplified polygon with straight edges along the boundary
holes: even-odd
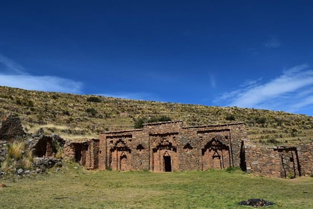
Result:
[[[12,142],[17,137],[25,136],[19,117],[4,115],[0,119],[0,139]]]

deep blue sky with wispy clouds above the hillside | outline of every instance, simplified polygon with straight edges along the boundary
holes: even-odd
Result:
[[[310,1],[2,1],[0,85],[313,115]]]

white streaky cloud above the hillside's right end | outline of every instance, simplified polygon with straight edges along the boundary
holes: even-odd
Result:
[[[225,106],[254,107],[296,112],[313,104],[313,71],[308,64],[286,69],[280,76],[261,82],[245,82],[214,100]],[[248,85],[247,85],[248,84]]]

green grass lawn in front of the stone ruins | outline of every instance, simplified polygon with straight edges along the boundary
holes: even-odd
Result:
[[[276,202],[265,208],[313,208],[313,178],[254,177],[236,170],[173,173],[87,171],[67,163],[58,173],[3,180],[0,208],[253,208],[248,198]]]

